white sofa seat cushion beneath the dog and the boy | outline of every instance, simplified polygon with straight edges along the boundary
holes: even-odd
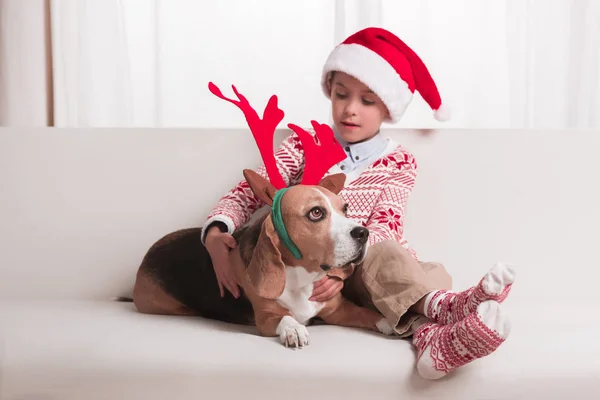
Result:
[[[598,323],[575,333],[526,315],[494,355],[431,382],[408,341],[357,329],[311,326],[312,344],[291,350],[253,327],[143,315],[132,303],[2,301],[0,398],[597,398],[600,363],[586,353],[599,354]]]

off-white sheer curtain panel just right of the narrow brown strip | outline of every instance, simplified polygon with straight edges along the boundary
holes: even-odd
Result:
[[[123,2],[50,3],[55,124],[132,125],[132,71]]]

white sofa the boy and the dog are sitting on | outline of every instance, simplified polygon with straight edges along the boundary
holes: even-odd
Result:
[[[280,140],[285,132],[279,132]],[[406,234],[455,289],[517,264],[513,329],[440,381],[409,342],[331,326],[293,351],[252,328],[136,313],[147,248],[253,167],[246,130],[0,131],[0,398],[597,399],[600,132],[389,130],[420,173]]]

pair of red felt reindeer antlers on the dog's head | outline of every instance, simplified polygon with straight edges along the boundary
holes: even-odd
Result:
[[[235,104],[244,112],[250,131],[252,131],[252,135],[258,145],[271,184],[278,190],[285,188],[286,184],[277,169],[273,151],[275,129],[285,115],[283,110],[277,106],[277,96],[271,96],[265,108],[263,118],[260,119],[256,111],[250,106],[248,100],[237,91],[234,85],[231,85],[231,87],[239,101],[225,97],[216,85],[212,82],[208,83],[208,89],[212,94]],[[296,132],[304,148],[305,165],[304,175],[300,182],[301,185],[318,184],[323,175],[332,166],[346,158],[344,149],[335,139],[333,130],[328,125],[319,124],[316,121],[311,121],[311,124],[316,133],[315,137],[299,126],[288,124],[288,127]]]

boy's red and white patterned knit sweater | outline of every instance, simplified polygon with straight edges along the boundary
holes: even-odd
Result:
[[[309,132],[314,135],[313,131]],[[296,133],[292,132],[281,143],[275,152],[275,159],[279,173],[288,186],[301,181],[304,150]],[[268,179],[264,165],[256,172]],[[336,165],[325,176],[339,172],[343,171]],[[395,240],[418,259],[404,238],[405,209],[416,175],[417,164],[413,155],[390,140],[384,154],[355,179],[347,179],[339,195],[348,202],[348,217],[369,229],[370,245],[383,240]],[[246,180],[242,180],[217,202],[204,224],[204,231],[211,223],[220,221],[227,225],[229,233],[233,233],[264,205]],[[203,243],[204,239],[203,235]]]

